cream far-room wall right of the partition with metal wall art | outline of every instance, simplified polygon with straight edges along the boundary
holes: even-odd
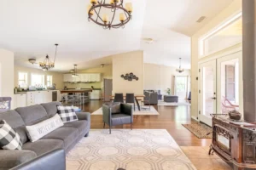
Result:
[[[161,90],[166,94],[166,89],[174,92],[174,76],[190,76],[190,70],[177,73],[177,68],[166,65],[144,64],[144,89]]]

